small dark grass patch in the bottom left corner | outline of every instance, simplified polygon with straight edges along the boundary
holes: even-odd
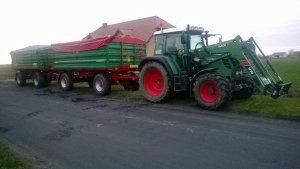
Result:
[[[24,158],[0,143],[0,169],[32,169],[32,165]]]

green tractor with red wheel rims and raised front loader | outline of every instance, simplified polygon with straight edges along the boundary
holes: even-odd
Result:
[[[212,36],[219,42],[209,45]],[[232,99],[250,98],[261,92],[274,99],[286,95],[291,83],[283,83],[260,47],[240,36],[222,42],[220,34],[201,27],[155,32],[154,57],[139,65],[139,85],[150,102],[167,101],[174,92],[189,91],[200,107],[222,108]]]

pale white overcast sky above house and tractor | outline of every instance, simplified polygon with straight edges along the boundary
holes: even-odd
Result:
[[[159,16],[223,40],[253,36],[267,54],[300,50],[300,0],[1,0],[0,64],[29,45],[80,40],[108,24]]]

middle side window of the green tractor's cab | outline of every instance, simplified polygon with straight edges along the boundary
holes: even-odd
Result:
[[[179,49],[184,49],[181,43],[180,34],[169,34],[166,39],[166,53],[177,53]]]

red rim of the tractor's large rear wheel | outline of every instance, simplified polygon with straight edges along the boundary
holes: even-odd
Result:
[[[144,87],[148,94],[157,96],[164,89],[164,78],[156,68],[150,68],[144,75]]]

